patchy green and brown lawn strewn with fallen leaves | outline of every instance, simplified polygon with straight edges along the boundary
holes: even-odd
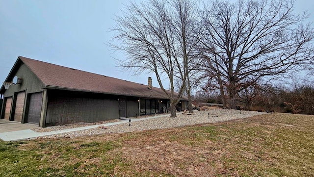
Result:
[[[0,141],[1,177],[314,177],[314,116]]]

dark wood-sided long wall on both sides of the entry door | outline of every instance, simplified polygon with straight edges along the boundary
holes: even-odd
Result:
[[[48,90],[45,126],[98,122],[119,118],[120,96]],[[138,98],[126,97],[126,116],[138,115]]]

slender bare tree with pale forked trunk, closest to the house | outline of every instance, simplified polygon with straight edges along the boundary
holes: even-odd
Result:
[[[176,117],[189,73],[188,63],[197,39],[193,34],[196,15],[193,0],[148,0],[137,5],[125,5],[123,16],[116,17],[116,34],[111,43],[115,50],[124,51],[127,60],[118,60],[119,66],[135,75],[155,73],[160,88],[170,99],[171,117]],[[170,91],[162,84],[170,81]],[[178,95],[174,93],[175,78],[182,79]]]

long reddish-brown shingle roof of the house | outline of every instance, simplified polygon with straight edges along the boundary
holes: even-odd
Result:
[[[46,88],[168,99],[166,94],[157,87],[150,90],[144,84],[63,67],[23,56],[19,56],[19,59],[45,84]],[[187,99],[183,97],[182,100]]]

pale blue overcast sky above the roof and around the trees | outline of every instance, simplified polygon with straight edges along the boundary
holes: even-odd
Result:
[[[132,0],[140,3],[142,0]],[[121,71],[113,58],[125,58],[106,45],[114,34],[115,15],[130,0],[0,0],[0,81],[18,56],[41,60],[159,87],[156,76]],[[314,0],[296,0],[295,11],[307,10],[314,22]],[[167,87],[169,84],[164,83]]]

